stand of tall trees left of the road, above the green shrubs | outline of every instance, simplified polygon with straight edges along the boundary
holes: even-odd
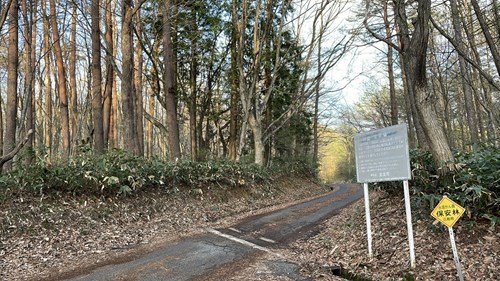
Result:
[[[18,145],[28,162],[84,146],[258,165],[312,155],[314,97],[352,38],[320,47],[343,6],[2,2],[3,170]]]

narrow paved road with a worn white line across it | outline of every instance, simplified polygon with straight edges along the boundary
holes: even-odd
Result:
[[[311,235],[320,222],[362,195],[358,185],[341,184],[324,196],[247,217],[228,228],[207,228],[199,235],[164,245],[142,257],[121,259],[89,272],[75,272],[67,280],[238,280],[235,272],[258,259],[262,261],[264,256],[273,256],[277,261],[269,263],[267,273],[256,273],[250,279],[270,280],[261,279],[267,274],[307,280],[280,254],[280,249],[299,237]]]

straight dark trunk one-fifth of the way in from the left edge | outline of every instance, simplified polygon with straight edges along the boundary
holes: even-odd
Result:
[[[102,73],[101,73],[101,28],[100,0],[92,0],[92,123],[94,126],[94,148],[104,152],[103,112],[102,112]],[[76,97],[75,97],[76,98]]]

